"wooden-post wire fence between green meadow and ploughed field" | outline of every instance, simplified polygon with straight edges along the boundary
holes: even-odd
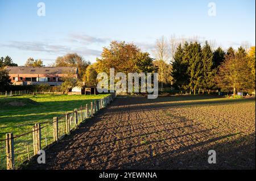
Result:
[[[52,120],[36,123],[30,132],[15,136],[7,133],[0,140],[0,170],[18,169],[22,163],[38,154],[40,149],[55,144],[65,135],[76,129],[82,121],[93,117],[99,110],[108,106],[115,98],[115,93],[102,99],[94,100],[90,105],[82,105],[79,109],[66,112]]]

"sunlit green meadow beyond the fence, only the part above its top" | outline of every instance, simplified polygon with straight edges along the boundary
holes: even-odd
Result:
[[[15,135],[31,131],[35,123],[52,120],[55,116],[63,116],[82,105],[90,104],[101,95],[22,95],[0,98],[0,139],[6,133]]]

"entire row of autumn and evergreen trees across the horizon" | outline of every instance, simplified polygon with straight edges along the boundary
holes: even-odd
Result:
[[[84,60],[77,53],[68,53],[57,57],[50,66],[77,67],[77,80],[72,77],[64,78],[65,90],[73,86],[97,85],[97,74],[109,73],[110,68],[123,73],[159,73],[160,88],[174,87],[176,90],[189,94],[201,94],[211,90],[253,91],[255,90],[255,47],[249,50],[230,47],[226,52],[218,47],[213,49],[208,41],[202,45],[196,39],[177,41],[171,37],[167,42],[164,37],[156,40],[150,53],[143,52],[137,45],[125,41],[112,41],[104,47],[101,56],[94,64]],[[11,57],[1,57],[0,67],[18,66]],[[24,66],[44,66],[42,60],[28,58]],[[1,70],[1,80],[6,79],[7,73]],[[6,82],[8,85],[10,81]],[[1,83],[5,85],[4,83]]]

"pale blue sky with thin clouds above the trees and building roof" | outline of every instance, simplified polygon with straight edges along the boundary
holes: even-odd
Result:
[[[156,39],[172,35],[224,49],[255,45],[255,0],[0,0],[0,57],[18,65],[67,53],[96,62],[113,40],[152,54]]]

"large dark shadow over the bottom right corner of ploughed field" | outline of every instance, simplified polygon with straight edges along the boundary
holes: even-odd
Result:
[[[210,142],[234,135],[217,137],[212,140],[189,145],[175,151],[169,151],[139,161],[126,163],[123,169],[255,169],[255,134],[226,141],[213,146]],[[239,144],[239,145],[238,145]],[[200,149],[195,149],[200,146]],[[203,146],[203,147],[202,147]],[[191,150],[194,151],[191,151]],[[195,151],[196,150],[196,151]],[[208,163],[208,151],[216,151],[216,164]],[[148,151],[152,152],[150,146]],[[179,154],[175,154],[175,152]]]

